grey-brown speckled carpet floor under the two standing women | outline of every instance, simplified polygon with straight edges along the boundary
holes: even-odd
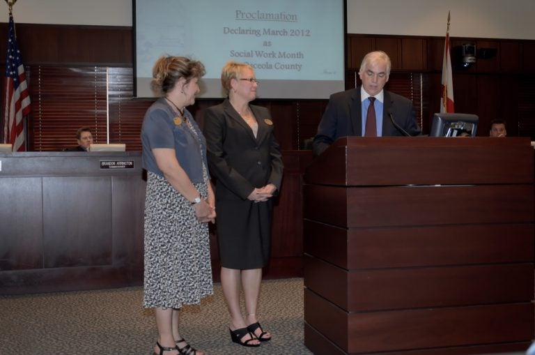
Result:
[[[0,296],[0,354],[150,355],[157,338],[143,289]],[[303,344],[303,280],[266,280],[258,320],[273,340],[259,348],[231,342],[221,285],[181,312],[182,335],[210,355],[312,354]]]

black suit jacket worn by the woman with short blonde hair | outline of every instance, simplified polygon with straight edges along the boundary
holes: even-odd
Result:
[[[247,199],[254,188],[272,183],[279,190],[283,163],[269,110],[249,105],[258,122],[258,134],[230,101],[208,107],[204,113],[210,174],[217,179],[217,199]]]

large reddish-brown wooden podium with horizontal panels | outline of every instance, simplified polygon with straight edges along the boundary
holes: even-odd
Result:
[[[525,351],[534,338],[528,137],[348,137],[304,185],[314,354]]]

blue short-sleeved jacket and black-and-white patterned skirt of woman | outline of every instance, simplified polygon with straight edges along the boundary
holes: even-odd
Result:
[[[147,170],[144,225],[144,307],[181,308],[213,293],[208,224],[158,169],[153,148],[173,148],[202,197],[208,195],[206,141],[192,114],[178,117],[163,98],[141,128]]]

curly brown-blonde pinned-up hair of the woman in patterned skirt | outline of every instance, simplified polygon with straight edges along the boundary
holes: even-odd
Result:
[[[192,61],[185,56],[160,56],[153,67],[150,88],[164,95],[175,87],[181,77],[188,83],[193,78],[200,79],[205,74],[206,70],[200,61]]]

